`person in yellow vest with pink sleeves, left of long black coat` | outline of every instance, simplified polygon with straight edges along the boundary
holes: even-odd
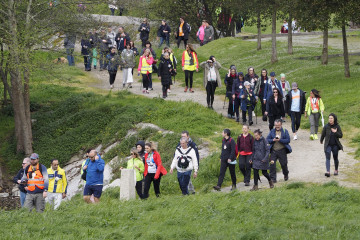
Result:
[[[151,82],[152,64],[154,58],[150,49],[146,49],[144,54],[139,59],[138,73],[142,75],[143,80],[143,93],[149,93],[149,83]]]

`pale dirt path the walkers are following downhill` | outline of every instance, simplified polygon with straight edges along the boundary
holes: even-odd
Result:
[[[101,89],[109,89],[109,76],[107,71],[100,72],[99,70],[93,70],[90,74],[99,79],[99,82],[92,86]],[[180,79],[179,79],[180,80]],[[206,106],[206,92],[204,89],[195,89],[195,93],[185,93],[183,87],[180,86],[179,82],[183,82],[184,80],[181,79],[180,81],[177,80],[176,84],[171,87],[171,93],[168,95],[168,100],[172,101],[185,101],[191,100],[197,102],[201,105]],[[162,96],[161,93],[161,84],[159,82],[155,82],[153,84],[153,91],[150,91],[150,94],[143,94],[140,90],[141,83],[135,82],[133,83],[133,88],[129,88],[128,90],[134,94],[145,95],[146,97],[153,98]],[[115,80],[115,87],[112,91],[121,91],[122,88],[122,72],[119,71],[116,80]],[[214,111],[221,113],[222,115],[227,115],[227,104],[225,109],[224,106],[224,97],[223,96],[215,96],[214,102]],[[255,119],[254,119],[255,123]],[[290,119],[287,118],[286,122],[283,126],[290,132],[291,134],[291,125]],[[242,126],[239,125],[239,128]],[[269,133],[268,124],[267,122],[263,122],[260,117],[257,119],[257,124],[254,124],[250,127],[252,131],[255,129],[260,128],[263,131],[264,137],[267,136]],[[354,149],[349,147],[345,147],[345,152],[339,153],[339,175],[338,176],[331,176],[330,178],[326,178],[324,176],[325,173],[325,155],[324,155],[324,147],[319,143],[319,141],[310,141],[309,140],[309,131],[300,129],[298,132],[298,140],[293,141],[291,137],[291,147],[293,152],[288,155],[288,167],[289,167],[289,182],[312,182],[312,183],[325,183],[331,180],[336,180],[342,186],[347,187],[354,187],[360,188],[359,184],[350,183],[345,181],[347,178],[346,172],[347,169],[350,169],[357,161],[351,156],[352,152],[355,152]],[[237,168],[238,170],[238,168]],[[333,161],[331,163],[331,171],[333,172],[334,165]],[[268,188],[268,183],[266,179],[261,176],[262,183],[259,183],[259,188]],[[283,184],[283,175],[281,172],[278,173],[278,183]],[[215,183],[214,183],[215,184]],[[251,183],[252,185],[252,183]],[[238,188],[240,190],[249,190],[251,187],[244,187],[244,183],[239,183]],[[223,188],[222,191],[229,191],[230,187]]]

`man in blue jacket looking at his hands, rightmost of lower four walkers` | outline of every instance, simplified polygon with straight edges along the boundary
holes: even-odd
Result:
[[[284,180],[289,179],[289,170],[287,167],[287,154],[291,153],[289,132],[282,128],[281,119],[275,120],[275,128],[272,129],[266,140],[270,144],[270,178],[276,183],[276,161],[279,159]]]

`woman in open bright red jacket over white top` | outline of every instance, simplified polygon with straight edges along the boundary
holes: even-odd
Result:
[[[156,197],[160,196],[160,179],[162,175],[166,175],[167,171],[163,167],[160,154],[156,151],[153,144],[145,144],[145,186],[144,186],[144,198],[149,197],[149,189],[151,182],[154,184],[154,190]]]

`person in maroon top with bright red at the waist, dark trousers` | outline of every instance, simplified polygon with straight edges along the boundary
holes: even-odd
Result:
[[[249,126],[243,125],[243,133],[238,137],[236,149],[239,157],[239,168],[244,175],[245,186],[250,186],[251,157],[253,154],[254,138],[249,133]]]

